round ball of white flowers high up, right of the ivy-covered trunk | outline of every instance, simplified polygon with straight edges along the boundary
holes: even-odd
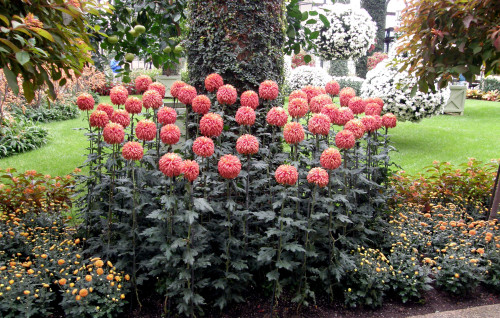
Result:
[[[355,9],[337,3],[327,6],[325,16],[330,22],[326,28],[323,23],[311,26],[311,31],[319,31],[313,40],[317,54],[326,60],[357,59],[364,56],[375,42],[377,27],[365,9]]]

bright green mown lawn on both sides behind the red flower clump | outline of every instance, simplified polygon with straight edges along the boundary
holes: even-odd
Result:
[[[109,103],[109,97],[101,97]],[[41,149],[0,160],[0,168],[35,169],[44,174],[65,175],[85,160],[86,118],[42,124],[50,141]],[[442,115],[420,123],[398,123],[390,130],[398,152],[392,159],[404,170],[416,173],[434,160],[458,164],[467,158],[489,161],[500,158],[500,103],[467,100],[463,116]]]

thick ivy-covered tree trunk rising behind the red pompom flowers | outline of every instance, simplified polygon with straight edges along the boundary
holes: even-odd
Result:
[[[190,84],[205,91],[205,77],[216,72],[240,94],[266,79],[281,86],[284,8],[283,0],[190,1]]]

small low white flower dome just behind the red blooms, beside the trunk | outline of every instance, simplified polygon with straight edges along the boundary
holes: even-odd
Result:
[[[292,69],[286,79],[291,91],[302,89],[307,85],[325,86],[331,80],[332,77],[321,67],[307,65]]]

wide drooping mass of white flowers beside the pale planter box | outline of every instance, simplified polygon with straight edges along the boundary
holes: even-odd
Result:
[[[391,65],[390,61],[391,58],[383,60],[366,74],[361,96],[382,98],[384,112],[393,113],[401,121],[418,122],[442,114],[450,90],[446,88],[436,93],[417,91],[411,96],[411,89],[417,83],[416,77],[406,71],[398,72],[397,64]]]

